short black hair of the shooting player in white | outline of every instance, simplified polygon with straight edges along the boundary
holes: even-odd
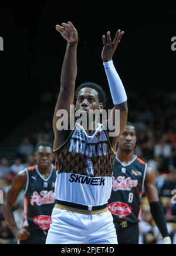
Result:
[[[77,95],[78,95],[80,89],[82,89],[84,87],[89,87],[89,88],[92,88],[92,89],[96,90],[98,92],[99,102],[102,102],[103,107],[105,107],[105,105],[106,105],[106,94],[103,91],[103,89],[100,87],[100,85],[97,85],[94,82],[84,82],[83,84],[79,85],[79,87],[75,91],[75,98],[76,99],[77,99]]]

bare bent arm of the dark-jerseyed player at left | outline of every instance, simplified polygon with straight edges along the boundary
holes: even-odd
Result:
[[[13,235],[19,240],[26,240],[30,235],[28,231],[23,228],[19,229],[16,225],[15,219],[13,217],[12,207],[15,204],[16,199],[18,198],[19,192],[21,189],[25,188],[26,185],[26,171],[19,172],[15,178],[13,179],[11,188],[9,188],[5,203],[2,207],[2,212],[4,214],[4,218],[11,229]]]

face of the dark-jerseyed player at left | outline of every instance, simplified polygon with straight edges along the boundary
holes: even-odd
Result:
[[[38,151],[35,152],[36,163],[40,168],[48,168],[53,161],[53,152],[50,147],[38,147]]]

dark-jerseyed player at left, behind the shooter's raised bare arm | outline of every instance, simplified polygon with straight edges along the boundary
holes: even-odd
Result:
[[[52,145],[49,142],[36,145],[35,159],[35,166],[24,169],[13,179],[3,207],[5,220],[19,244],[45,244],[55,204],[56,172],[52,164]],[[12,207],[22,189],[25,189],[25,220],[23,227],[19,228]]]

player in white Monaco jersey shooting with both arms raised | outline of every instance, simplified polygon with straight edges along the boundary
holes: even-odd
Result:
[[[56,29],[66,39],[67,48],[53,118],[56,206],[46,244],[117,244],[107,200],[111,193],[114,150],[119,136],[110,137],[109,130],[104,131],[101,124],[95,130],[86,129],[77,122],[72,131],[57,129],[57,111],[65,109],[69,113],[74,101],[78,35],[72,22],[56,25]],[[120,109],[120,132],[126,125],[127,97],[112,57],[123,33],[117,31],[111,41],[110,32],[107,32],[107,39],[103,36],[101,52],[114,109]],[[99,85],[82,84],[76,91],[76,111],[86,113],[88,119],[90,109],[103,109],[105,98]],[[114,109],[112,114],[116,118]]]

